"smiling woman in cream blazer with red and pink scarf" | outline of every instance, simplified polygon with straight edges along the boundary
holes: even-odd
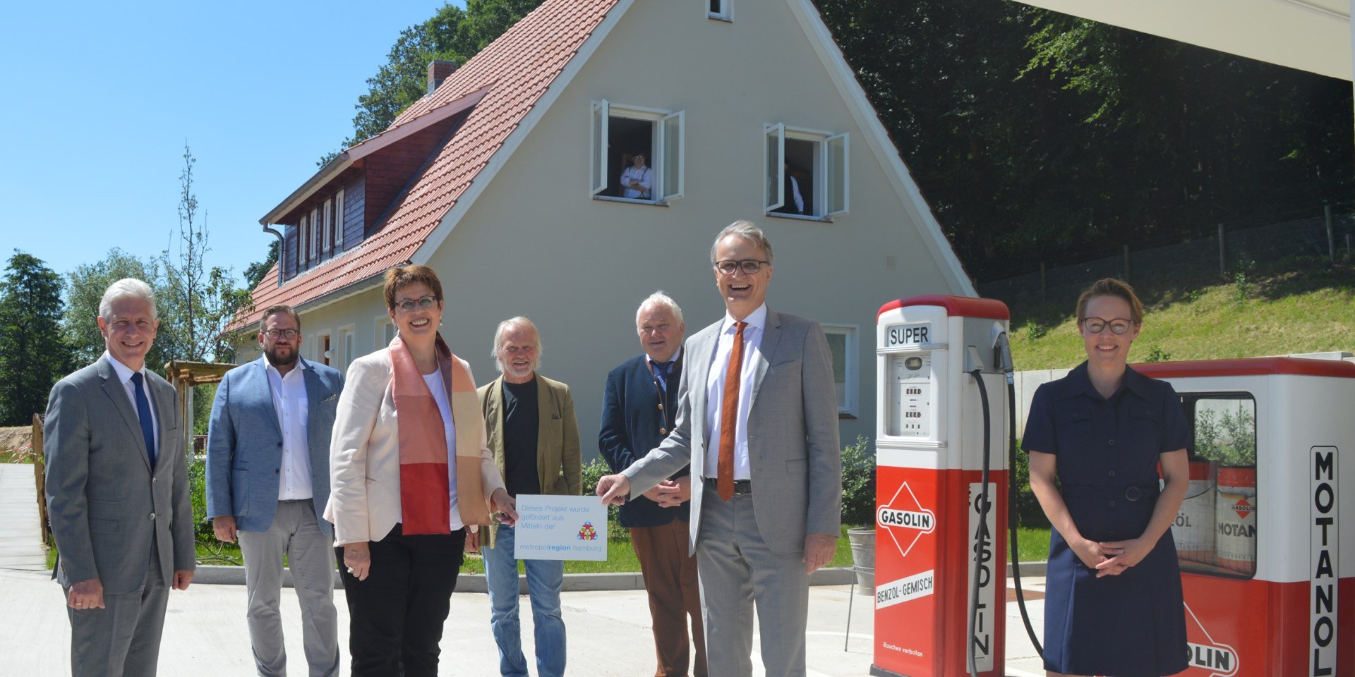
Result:
[[[466,533],[518,519],[489,454],[466,360],[438,332],[442,283],[427,265],[386,271],[400,333],[348,367],[329,444],[325,519],[348,601],[352,677],[438,674],[438,642]]]

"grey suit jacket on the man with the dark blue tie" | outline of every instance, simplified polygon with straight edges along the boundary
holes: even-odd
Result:
[[[57,581],[99,578],[106,593],[117,594],[142,588],[152,543],[159,547],[167,586],[175,570],[196,565],[175,389],[148,372],[160,424],[152,468],[137,410],[110,359],[100,357],[51,389],[42,448],[47,512],[60,554]]]

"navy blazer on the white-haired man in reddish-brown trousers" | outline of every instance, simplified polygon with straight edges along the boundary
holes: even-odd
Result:
[[[686,356],[686,351],[683,351]],[[603,390],[602,429],[598,432],[598,451],[612,473],[630,467],[644,458],[672,432],[678,418],[678,383],[682,380],[683,357],[668,374],[668,393],[660,405],[659,380],[649,371],[645,355],[631,357],[607,374]],[[687,475],[682,468],[669,479]],[[691,501],[676,508],[637,496],[621,506],[622,527],[661,527],[678,517],[687,521]]]

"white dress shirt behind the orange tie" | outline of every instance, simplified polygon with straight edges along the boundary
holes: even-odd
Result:
[[[734,479],[752,479],[748,467],[748,412],[752,409],[753,375],[756,372],[753,352],[762,349],[763,328],[767,326],[767,303],[757,306],[748,317],[744,328],[744,356],[738,370],[738,418],[734,421]],[[715,362],[710,364],[706,378],[706,429],[710,443],[706,444],[706,477],[720,477],[720,433],[721,399],[725,397],[725,372],[729,371],[729,356],[734,349],[734,318],[725,313],[720,329],[720,343],[715,345]]]

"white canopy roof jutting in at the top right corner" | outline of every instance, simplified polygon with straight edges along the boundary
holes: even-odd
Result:
[[[1355,0],[1018,1],[1351,80],[1351,5]]]

